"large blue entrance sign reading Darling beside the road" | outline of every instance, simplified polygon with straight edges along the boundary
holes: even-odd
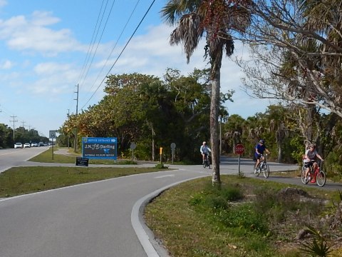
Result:
[[[108,158],[116,160],[116,138],[82,138],[83,158]]]

